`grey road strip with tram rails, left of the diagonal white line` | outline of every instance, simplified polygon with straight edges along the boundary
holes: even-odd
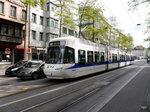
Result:
[[[78,80],[54,80],[39,89],[0,98],[1,112],[97,112],[131,82],[145,61]]]

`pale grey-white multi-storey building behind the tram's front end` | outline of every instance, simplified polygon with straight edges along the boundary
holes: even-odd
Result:
[[[49,41],[59,37],[60,21],[56,16],[58,10],[59,7],[53,0],[46,0],[42,9],[39,5],[30,8],[30,59],[45,60]],[[62,36],[77,36],[77,32],[68,27],[62,27],[61,34]]]

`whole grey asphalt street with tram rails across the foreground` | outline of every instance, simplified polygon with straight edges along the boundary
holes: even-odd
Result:
[[[139,61],[76,80],[28,81],[44,86],[0,98],[0,112],[150,112],[149,73]]]

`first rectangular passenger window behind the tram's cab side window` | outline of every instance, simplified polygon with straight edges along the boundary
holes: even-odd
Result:
[[[86,64],[86,58],[85,58],[85,51],[84,50],[78,51],[78,63],[79,63],[79,65],[85,65]]]

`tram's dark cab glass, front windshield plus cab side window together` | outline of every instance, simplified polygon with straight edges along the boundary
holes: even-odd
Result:
[[[75,63],[74,49],[70,47],[49,47],[47,50],[48,64],[71,64]]]

